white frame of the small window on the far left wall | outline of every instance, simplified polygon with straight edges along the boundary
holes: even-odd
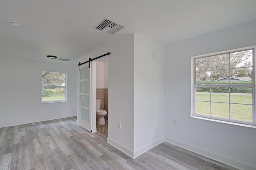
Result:
[[[42,73],[60,73],[60,72],[52,72],[52,71],[42,71]],[[60,74],[65,74],[65,85],[64,86],[43,86],[42,85],[42,88],[41,88],[41,103],[59,103],[59,102],[66,102],[67,101],[67,73],[60,73]],[[42,76],[42,74],[41,74]],[[42,81],[42,77],[41,77],[41,81]],[[65,96],[65,99],[64,100],[53,100],[53,101],[43,101],[43,89],[44,88],[47,88],[47,87],[50,87],[50,88],[64,88],[64,96]]]

